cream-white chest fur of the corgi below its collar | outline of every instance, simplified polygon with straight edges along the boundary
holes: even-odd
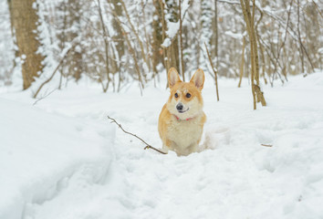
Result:
[[[197,150],[203,132],[200,126],[202,116],[191,120],[177,120],[173,117],[168,127],[168,138],[172,141],[171,148],[181,154],[189,154]]]

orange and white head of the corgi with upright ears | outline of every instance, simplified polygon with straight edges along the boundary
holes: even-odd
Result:
[[[204,84],[204,72],[197,69],[190,82],[182,82],[175,68],[168,71],[168,83],[171,96],[167,109],[181,120],[193,118],[203,110],[201,91]]]

